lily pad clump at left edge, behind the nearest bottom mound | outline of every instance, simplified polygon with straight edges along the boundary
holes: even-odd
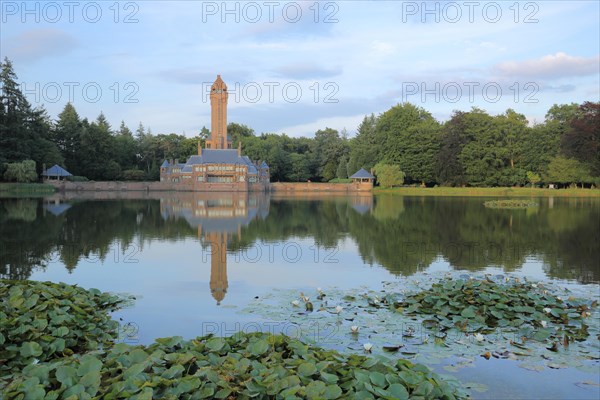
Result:
[[[109,346],[118,324],[106,315],[123,299],[66,284],[0,280],[0,373]]]

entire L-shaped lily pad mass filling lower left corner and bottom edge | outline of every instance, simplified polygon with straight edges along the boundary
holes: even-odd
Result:
[[[467,398],[398,359],[343,355],[284,335],[239,333],[113,346],[119,297],[65,284],[0,282],[6,399]],[[10,383],[8,383],[10,382]]]

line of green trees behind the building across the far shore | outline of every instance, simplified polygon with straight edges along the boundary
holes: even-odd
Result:
[[[115,129],[102,112],[89,121],[70,103],[52,121],[28,103],[10,60],[0,65],[0,179],[31,176],[16,164],[33,160],[38,174],[59,164],[92,180],[157,180],[164,159],[184,162],[210,133],[155,135],[141,122],[135,132],[124,122]],[[365,116],[353,138],[331,128],[313,138],[227,128],[234,148],[241,142],[244,154],[269,164],[271,181],[345,179],[365,168],[427,186],[600,184],[600,102],[554,105],[536,124],[512,109],[489,115],[476,107],[442,123],[403,103]]]

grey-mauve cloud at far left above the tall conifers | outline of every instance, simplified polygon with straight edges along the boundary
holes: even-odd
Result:
[[[62,57],[77,48],[79,43],[60,29],[32,29],[7,39],[5,45],[8,58],[35,62],[47,57]]]

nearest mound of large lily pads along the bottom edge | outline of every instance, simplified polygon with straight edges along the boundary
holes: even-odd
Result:
[[[119,344],[32,365],[8,385],[5,398],[32,393],[138,399],[467,398],[423,365],[346,356],[263,333],[162,338],[148,347]]]

